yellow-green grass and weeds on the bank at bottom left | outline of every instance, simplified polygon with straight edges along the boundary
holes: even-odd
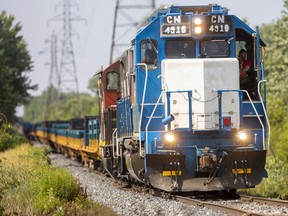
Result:
[[[2,152],[0,173],[0,215],[116,215],[85,199],[67,170],[50,165],[44,148]]]

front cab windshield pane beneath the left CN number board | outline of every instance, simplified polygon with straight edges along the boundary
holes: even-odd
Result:
[[[170,59],[195,58],[195,41],[168,40],[165,42],[165,56]]]

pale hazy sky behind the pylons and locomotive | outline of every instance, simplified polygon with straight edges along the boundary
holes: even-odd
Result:
[[[0,0],[0,11],[5,10],[8,14],[14,15],[16,22],[20,22],[23,26],[21,34],[30,50],[34,65],[33,71],[28,75],[33,84],[38,84],[38,90],[31,92],[35,96],[40,95],[48,85],[51,34],[54,31],[59,37],[62,35],[61,23],[51,20],[61,14],[60,2],[61,0]],[[137,2],[147,4],[150,1],[122,0],[120,5],[135,5]],[[74,3],[78,7],[71,8],[73,13],[85,19],[85,21],[72,23],[75,32],[73,48],[77,78],[80,91],[88,92],[88,80],[101,65],[105,68],[109,64],[116,0],[74,0]],[[240,19],[246,18],[252,27],[275,22],[280,18],[283,9],[283,0],[274,0],[273,5],[271,1],[262,0],[156,0],[156,8],[160,5],[205,5],[209,3],[227,7],[230,14],[237,15]],[[126,10],[125,13],[135,20],[149,14],[148,10],[135,9]],[[121,19],[125,22],[124,16],[119,15],[118,23]],[[136,30],[133,30],[131,35],[135,33]],[[129,38],[130,36],[125,37],[128,41],[132,39]],[[60,62],[60,54],[59,52],[58,62]]]

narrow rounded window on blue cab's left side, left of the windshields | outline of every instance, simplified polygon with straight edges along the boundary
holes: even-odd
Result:
[[[158,65],[158,44],[156,40],[147,39],[141,42],[141,63],[147,64],[149,70],[154,70]]]

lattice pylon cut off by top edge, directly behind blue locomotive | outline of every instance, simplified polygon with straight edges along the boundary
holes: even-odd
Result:
[[[139,1],[129,4],[126,0],[116,0],[114,11],[114,24],[112,33],[112,43],[110,49],[110,64],[116,51],[122,52],[123,48],[128,48],[131,43],[132,36],[129,33],[135,33],[142,23],[142,17],[155,10],[155,0]],[[129,13],[128,13],[129,12]],[[133,14],[129,15],[129,14]],[[140,17],[140,18],[139,18]],[[119,23],[121,20],[122,23]],[[123,20],[125,20],[123,22]],[[134,30],[134,32],[133,32]],[[122,48],[121,48],[122,47]],[[118,53],[122,54],[122,53]]]

